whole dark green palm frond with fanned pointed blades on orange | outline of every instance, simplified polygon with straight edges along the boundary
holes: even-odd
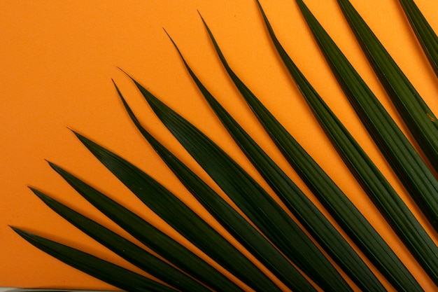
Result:
[[[395,107],[400,111],[416,143],[423,153],[404,136],[379,100],[362,80],[347,58],[325,32],[318,20],[297,0],[311,33],[337,81],[344,90],[365,128],[379,147],[393,172],[397,174],[425,218],[435,228],[433,235],[423,228],[407,204],[391,186],[360,144],[331,111],[286,53],[258,0],[267,36],[276,53],[302,92],[315,118],[332,141],[348,169],[370,197],[376,208],[407,246],[419,266],[438,286],[438,247],[434,242],[438,231],[438,124],[432,110],[348,0],[338,0],[341,11],[351,25],[369,62]],[[437,70],[437,35],[414,1],[400,0],[400,5],[423,46],[432,68]],[[244,130],[232,115],[213,97],[202,83],[202,72],[196,74],[182,51],[171,39],[178,55],[197,88],[241,151],[253,163],[267,186],[264,189],[239,163],[215,144],[214,133],[204,134],[141,83],[127,75],[146,99],[156,116],[209,174],[223,191],[218,193],[190,167],[171,153],[147,130],[115,85],[129,118],[160,155],[175,176],[204,206],[216,221],[240,245],[230,242],[209,223],[190,209],[178,196],[164,188],[153,175],[146,174],[134,163],[108,151],[91,139],[74,132],[80,142],[119,179],[136,197],[176,232],[188,239],[214,263],[239,281],[222,274],[182,244],[164,234],[137,214],[126,209],[104,193],[49,162],[50,167],[81,196],[94,205],[138,243],[118,235],[78,211],[57,202],[35,188],[32,192],[50,209],[139,268],[132,272],[108,260],[65,246],[39,235],[13,228],[18,235],[51,256],[126,291],[423,291],[421,283],[397,257],[390,245],[371,223],[362,216],[348,195],[332,181],[311,155],[278,122],[253,92],[232,70],[220,50],[219,41],[201,18],[220,63],[241,93],[274,144],[325,210],[309,199],[286,172]],[[424,155],[423,155],[424,154]],[[424,159],[423,159],[424,158]],[[428,168],[428,162],[432,168]],[[276,197],[274,197],[274,194]],[[231,204],[231,200],[234,204]],[[326,212],[327,211],[327,212]],[[327,214],[330,214],[327,215]],[[248,257],[248,253],[251,257]],[[152,276],[152,277],[150,277]],[[384,278],[384,279],[383,279]]]

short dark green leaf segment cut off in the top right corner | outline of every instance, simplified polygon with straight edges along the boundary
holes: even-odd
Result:
[[[430,27],[428,20],[425,19],[418,6],[413,0],[399,0],[402,4],[412,29],[418,38],[423,50],[428,57],[432,69],[438,76],[438,36]]]

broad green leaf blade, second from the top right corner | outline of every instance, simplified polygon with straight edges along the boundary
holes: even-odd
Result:
[[[403,74],[389,53],[383,48],[359,13],[348,0],[337,0],[351,29],[355,33],[362,50],[376,72],[383,87],[388,92],[393,104],[402,116],[404,123],[421,146],[425,155],[438,170],[438,122],[437,117],[425,104],[414,86]],[[423,202],[421,207],[430,210],[428,202]],[[436,206],[435,206],[436,207]],[[438,211],[428,211],[434,216],[432,225],[438,224]]]

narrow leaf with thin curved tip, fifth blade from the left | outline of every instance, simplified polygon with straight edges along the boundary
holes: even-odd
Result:
[[[122,99],[125,109],[143,137],[148,140],[162,160],[178,176],[178,179],[197,197],[206,209],[243,244],[261,263],[266,265],[292,291],[314,291],[302,274],[263,236],[253,225],[250,225],[236,210],[223,200],[194,172],[186,167],[181,160],[167,150],[139,123],[117,85],[115,88]]]

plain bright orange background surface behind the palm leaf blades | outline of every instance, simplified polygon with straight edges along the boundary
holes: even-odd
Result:
[[[438,113],[437,78],[414,39],[397,1],[351,2],[426,102]],[[435,31],[438,31],[438,2],[417,0],[416,3]],[[306,4],[388,111],[393,113],[388,97],[360,53],[336,1],[306,0]],[[388,175],[390,182],[406,198],[414,213],[418,214],[346,102],[299,14],[295,1],[262,1],[262,5],[292,59]],[[159,218],[138,204],[129,191],[73,137],[67,127],[134,162],[182,200],[199,209],[202,216],[220,230],[171,175],[130,122],[115,94],[111,78],[118,83],[148,130],[205,177],[117,67],[134,76],[169,106],[209,134],[250,174],[259,179],[193,85],[162,27],[174,38],[192,69],[213,95],[302,186],[295,172],[288,167],[267,135],[255,123],[255,118],[227,78],[197,14],[199,10],[236,73],[351,200],[358,204],[359,209],[388,239],[424,288],[427,291],[434,289],[432,282],[362,193],[313,119],[276,55],[254,1],[6,0],[1,1],[0,7],[0,286],[111,288],[45,255],[18,237],[8,225],[73,244],[131,268],[71,227],[27,189],[29,185],[34,186],[118,230],[67,186],[48,167],[45,159],[77,174],[151,222],[162,225],[164,230],[169,230],[172,236],[178,238]],[[393,116],[398,120],[396,115]],[[304,186],[303,189],[307,192]],[[424,222],[421,215],[418,218]],[[425,226],[431,231],[427,223]]]

